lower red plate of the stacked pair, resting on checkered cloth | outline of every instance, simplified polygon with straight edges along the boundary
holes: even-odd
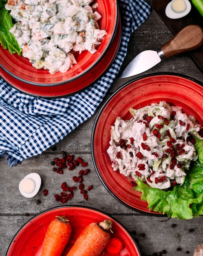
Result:
[[[102,58],[102,60],[92,69],[90,72],[86,73],[83,77],[79,77],[75,81],[56,85],[56,86],[39,86],[31,85],[29,83],[24,83],[15,77],[8,74],[2,68],[0,68],[0,76],[7,81],[11,86],[32,96],[48,97],[48,98],[57,98],[65,97],[80,92],[90,85],[99,80],[99,78],[104,74],[104,72],[110,67],[113,63],[121,40],[121,19],[119,18],[119,25],[115,38],[112,45],[110,46],[108,53]]]

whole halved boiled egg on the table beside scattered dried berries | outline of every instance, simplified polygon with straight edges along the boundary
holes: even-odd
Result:
[[[40,190],[41,183],[42,180],[38,173],[30,173],[20,181],[20,193],[26,198],[32,198]]]

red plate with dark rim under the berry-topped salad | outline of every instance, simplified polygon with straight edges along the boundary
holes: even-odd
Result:
[[[113,171],[106,152],[109,147],[110,130],[117,116],[124,120],[132,116],[130,107],[142,108],[165,100],[183,108],[203,124],[203,87],[194,79],[176,74],[154,74],[141,76],[119,88],[99,111],[92,133],[92,157],[101,182],[119,202],[142,213],[163,216],[149,211],[141,192],[132,190],[130,177]],[[202,131],[203,132],[203,131]]]

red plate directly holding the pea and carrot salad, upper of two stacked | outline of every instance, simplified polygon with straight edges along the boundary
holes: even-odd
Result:
[[[107,34],[102,40],[101,45],[97,47],[97,52],[91,54],[84,51],[81,54],[75,55],[77,64],[65,73],[56,72],[49,74],[48,70],[37,70],[29,59],[19,56],[18,54],[10,54],[8,50],[0,47],[0,66],[8,74],[16,79],[32,85],[57,85],[74,81],[97,65],[106,52],[115,37],[118,21],[119,21],[119,6],[117,0],[95,0],[99,4],[97,11],[101,14],[102,18],[99,20],[101,29],[106,29]]]

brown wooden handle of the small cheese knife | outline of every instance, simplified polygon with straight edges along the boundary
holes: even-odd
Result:
[[[203,44],[203,29],[198,25],[188,25],[174,38],[161,47],[166,58],[197,49]]]

